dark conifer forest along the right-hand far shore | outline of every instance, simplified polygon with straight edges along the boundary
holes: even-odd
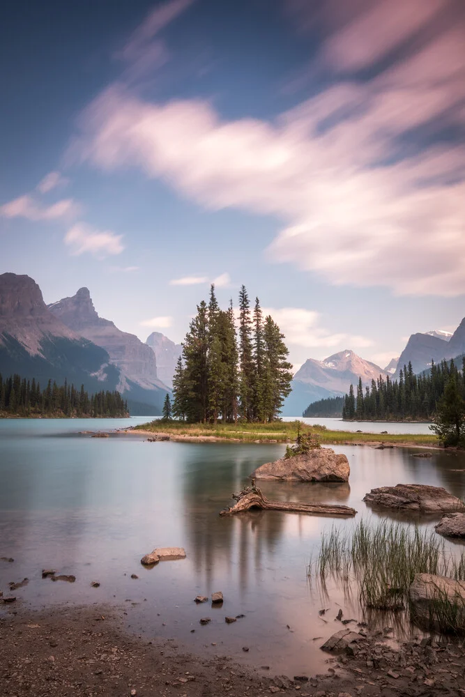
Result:
[[[456,359],[457,360],[457,359]],[[436,415],[439,400],[443,397],[445,385],[454,378],[457,389],[465,397],[465,357],[462,358],[462,371],[455,362],[443,360],[438,365],[432,362],[431,369],[420,375],[413,374],[412,365],[404,365],[399,380],[386,380],[379,376],[372,380],[371,387],[363,390],[358,381],[356,393],[351,385],[349,395],[344,397],[342,418],[346,420],[432,420]]]

